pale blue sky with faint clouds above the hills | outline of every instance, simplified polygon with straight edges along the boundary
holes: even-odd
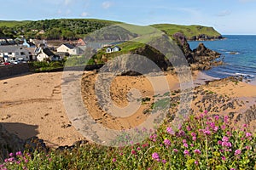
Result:
[[[213,26],[222,34],[256,34],[256,0],[0,0],[0,20],[96,18],[136,25]]]

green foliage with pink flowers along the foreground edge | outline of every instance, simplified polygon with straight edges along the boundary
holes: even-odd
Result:
[[[141,135],[143,132],[137,132]],[[255,134],[247,125],[230,127],[228,116],[207,111],[174,132],[164,123],[140,144],[85,144],[72,150],[10,153],[1,169],[255,169]]]

